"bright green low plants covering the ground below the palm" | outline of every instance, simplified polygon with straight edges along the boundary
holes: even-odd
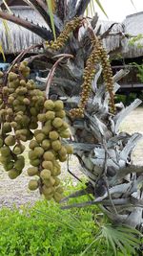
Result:
[[[69,193],[75,189],[79,186],[69,187]],[[3,208],[0,233],[1,256],[113,256],[116,250],[118,256],[132,256],[133,248],[139,243],[134,237],[137,231],[128,227],[112,228],[96,207],[63,211],[58,204],[43,200],[32,207]]]

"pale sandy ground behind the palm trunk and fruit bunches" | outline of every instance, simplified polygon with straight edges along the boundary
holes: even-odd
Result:
[[[143,107],[135,109],[124,120],[120,129],[129,133],[140,132],[143,134]],[[27,169],[29,161],[27,160],[27,152],[25,154]],[[138,165],[143,164],[143,140],[138,143],[133,151],[133,162]],[[72,173],[81,175],[80,166],[75,157],[71,158],[70,167]],[[35,200],[40,198],[38,191],[30,192],[28,190],[28,182],[31,177],[27,175],[26,169],[23,174],[15,180],[10,180],[7,173],[4,172],[2,166],[0,166],[0,207],[12,207],[12,205],[19,206],[26,203],[32,204]],[[62,165],[62,179],[64,182],[72,181],[76,183],[75,178],[72,178],[72,176],[68,174],[66,164]]]

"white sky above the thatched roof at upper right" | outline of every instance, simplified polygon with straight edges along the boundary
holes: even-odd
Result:
[[[100,3],[111,21],[123,21],[129,14],[143,12],[143,0],[100,0]],[[95,11],[98,12],[99,19],[107,20],[104,13],[99,10],[96,4]]]

